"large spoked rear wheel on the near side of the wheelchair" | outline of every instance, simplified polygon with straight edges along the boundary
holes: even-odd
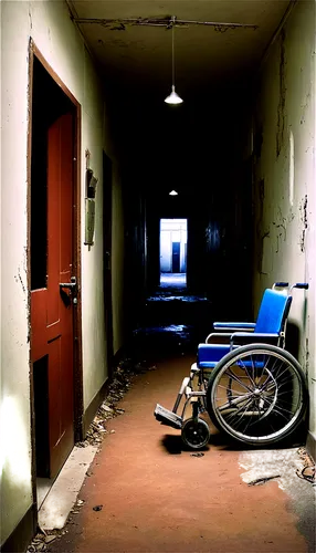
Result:
[[[252,446],[288,437],[307,407],[306,378],[295,357],[268,344],[251,344],[227,354],[207,390],[208,413],[232,438]]]

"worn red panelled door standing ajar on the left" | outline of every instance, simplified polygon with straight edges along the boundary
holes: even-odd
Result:
[[[74,445],[73,390],[73,116],[46,129],[46,288],[31,292],[31,358],[48,359],[49,472]],[[36,217],[32,212],[32,217]],[[32,255],[32,251],[31,251]],[[71,284],[61,286],[61,284]],[[36,424],[36,421],[35,421]],[[35,445],[36,449],[41,444]]]

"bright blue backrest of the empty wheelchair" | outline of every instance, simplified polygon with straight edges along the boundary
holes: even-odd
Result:
[[[260,305],[254,332],[280,334],[288,315],[292,295],[266,289]]]

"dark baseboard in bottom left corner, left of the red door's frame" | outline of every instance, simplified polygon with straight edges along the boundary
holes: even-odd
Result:
[[[25,512],[8,540],[1,545],[1,553],[24,553],[36,533],[38,510],[35,503]]]

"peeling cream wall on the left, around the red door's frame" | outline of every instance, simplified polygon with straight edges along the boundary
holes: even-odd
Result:
[[[30,336],[27,281],[27,146],[29,40],[82,106],[82,331],[84,407],[107,378],[103,309],[103,190],[102,150],[114,164],[113,220],[122,219],[119,171],[104,115],[104,97],[96,71],[63,1],[8,1],[2,8],[1,66],[1,543],[7,540],[33,503],[31,481]],[[95,246],[84,240],[85,149],[98,177]],[[115,348],[122,345],[122,240],[114,238],[113,303]]]

